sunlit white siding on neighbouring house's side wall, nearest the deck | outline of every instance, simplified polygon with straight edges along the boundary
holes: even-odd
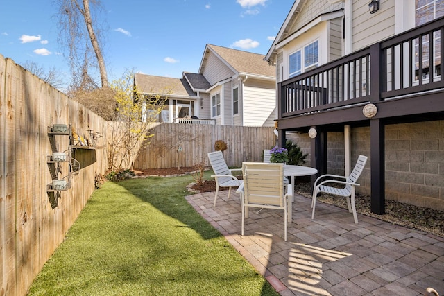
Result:
[[[244,126],[274,126],[275,96],[274,82],[264,87],[264,82],[259,85],[255,80],[247,80],[244,85]]]

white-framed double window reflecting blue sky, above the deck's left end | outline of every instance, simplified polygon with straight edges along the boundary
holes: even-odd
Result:
[[[308,71],[319,64],[319,48],[318,40],[308,44],[303,49],[292,53],[289,56],[289,76],[293,77],[299,75],[304,71]],[[304,62],[302,64],[302,61]]]

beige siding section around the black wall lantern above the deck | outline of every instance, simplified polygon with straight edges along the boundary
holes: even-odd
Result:
[[[368,12],[368,1],[352,1],[352,50],[357,51],[395,35],[395,1],[380,3],[381,9]]]

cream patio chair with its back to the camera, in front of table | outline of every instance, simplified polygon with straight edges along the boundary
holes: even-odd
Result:
[[[287,216],[289,198],[293,197],[291,184],[284,190],[284,165],[264,164],[261,162],[244,162],[242,164],[244,183],[237,192],[241,193],[242,222],[241,234],[244,235],[244,220],[248,218],[248,208],[283,209],[284,240],[287,241]]]

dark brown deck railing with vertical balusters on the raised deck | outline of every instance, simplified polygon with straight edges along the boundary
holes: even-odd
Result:
[[[280,82],[280,118],[443,88],[443,35],[436,19]]]

